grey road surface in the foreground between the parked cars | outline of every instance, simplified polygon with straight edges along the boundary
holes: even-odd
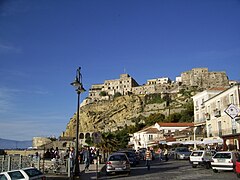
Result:
[[[88,172],[83,179],[96,179],[94,172]],[[148,171],[141,162],[138,166],[132,167],[131,174],[113,174],[106,176],[102,174],[98,179],[118,179],[118,180],[236,180],[236,174],[232,171],[220,171],[214,173],[212,169],[202,167],[192,168],[187,160],[169,160],[168,162],[152,162]]]

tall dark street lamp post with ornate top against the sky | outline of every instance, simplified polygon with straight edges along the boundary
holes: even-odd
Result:
[[[76,78],[71,85],[76,89],[77,92],[77,119],[76,119],[76,142],[75,142],[75,168],[74,168],[74,176],[80,175],[79,168],[79,152],[78,152],[78,141],[79,141],[79,110],[80,110],[80,94],[86,91],[82,85],[82,74],[80,72],[81,68],[79,67],[76,72]]]

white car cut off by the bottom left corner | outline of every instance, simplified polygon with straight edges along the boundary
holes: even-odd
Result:
[[[0,173],[2,180],[46,180],[46,176],[34,167]]]

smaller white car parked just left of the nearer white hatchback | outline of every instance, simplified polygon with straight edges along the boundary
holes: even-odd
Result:
[[[189,162],[193,168],[203,166],[206,169],[211,167],[212,152],[210,150],[197,150],[193,151],[190,155]]]

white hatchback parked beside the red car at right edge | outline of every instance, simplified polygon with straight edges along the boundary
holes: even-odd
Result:
[[[235,151],[219,151],[212,157],[211,166],[213,172],[218,170],[235,170],[236,160],[239,158],[239,153]]]

